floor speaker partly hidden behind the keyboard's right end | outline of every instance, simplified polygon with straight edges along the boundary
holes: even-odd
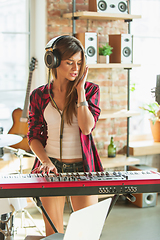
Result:
[[[143,171],[143,170],[157,171],[156,168],[149,167],[143,164],[128,166],[128,170],[129,171]],[[140,208],[155,207],[157,204],[157,193],[137,193],[132,195],[136,198],[136,201],[133,202],[133,204]]]

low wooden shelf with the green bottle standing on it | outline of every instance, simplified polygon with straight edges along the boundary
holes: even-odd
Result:
[[[140,160],[126,155],[117,154],[115,158],[101,157],[104,168],[122,167],[127,165],[139,164]]]

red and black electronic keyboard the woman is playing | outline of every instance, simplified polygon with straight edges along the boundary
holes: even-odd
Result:
[[[154,171],[0,175],[0,198],[160,192]]]

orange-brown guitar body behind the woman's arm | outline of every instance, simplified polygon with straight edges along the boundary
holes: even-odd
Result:
[[[28,121],[26,119],[26,122],[21,122],[22,112],[23,111],[21,108],[17,108],[12,113],[13,126],[8,133],[20,135],[21,137],[23,137],[23,139],[21,142],[12,145],[11,147],[16,149],[20,148],[25,150],[26,152],[31,152],[27,139]]]

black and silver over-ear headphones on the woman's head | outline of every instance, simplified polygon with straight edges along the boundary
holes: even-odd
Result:
[[[60,65],[60,63],[61,63],[60,52],[57,49],[53,49],[53,48],[58,41],[60,41],[61,39],[65,38],[65,37],[68,37],[68,36],[69,35],[62,35],[59,37],[55,37],[47,43],[47,45],[45,47],[46,53],[44,56],[44,61],[48,68],[50,68],[50,69],[57,68]]]

